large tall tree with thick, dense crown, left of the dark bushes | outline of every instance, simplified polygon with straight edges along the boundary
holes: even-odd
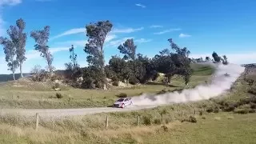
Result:
[[[96,23],[90,23],[86,26],[86,36],[88,42],[86,43],[84,51],[88,54],[87,62],[90,66],[94,66],[101,70],[102,74],[102,89],[106,90],[106,74],[104,70],[104,42],[106,34],[112,30],[112,23],[110,21],[100,21]]]

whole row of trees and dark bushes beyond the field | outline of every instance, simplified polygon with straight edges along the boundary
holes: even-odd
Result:
[[[10,26],[10,29],[7,30],[10,38],[0,38],[9,70],[15,74],[19,66],[21,77],[22,63],[26,61],[27,34],[23,32],[25,27],[26,23],[20,18],[17,20],[16,26]],[[106,90],[108,78],[112,80],[113,85],[118,86],[120,81],[127,84],[145,83],[158,78],[159,73],[165,74],[168,82],[174,74],[181,75],[186,85],[188,84],[192,74],[190,67],[192,60],[189,58],[190,50],[186,47],[180,48],[172,38],[168,39],[170,49],[160,51],[154,58],[147,58],[146,55],[139,54],[134,40],[127,39],[126,42],[117,47],[122,57],[114,55],[106,65],[103,46],[106,35],[110,33],[112,27],[113,24],[110,21],[100,21],[86,25],[85,31],[88,42],[84,51],[87,54],[86,59],[89,66],[80,67],[77,62],[78,55],[74,52],[74,46],[70,47],[70,62],[65,63],[65,75],[67,79],[76,83],[76,86]],[[43,81],[45,78],[55,79],[54,66],[52,65],[54,57],[50,54],[50,46],[47,44],[49,36],[50,26],[30,32],[30,37],[34,38],[35,42],[34,50],[38,50],[47,63],[46,70],[40,66],[35,66],[31,71],[37,81]],[[217,56],[213,54],[214,60],[217,57],[218,54]]]

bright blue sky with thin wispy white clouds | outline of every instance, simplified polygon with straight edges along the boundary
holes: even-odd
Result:
[[[105,42],[106,62],[119,54],[118,45],[134,38],[138,53],[153,57],[169,48],[168,38],[186,46],[190,57],[205,58],[213,51],[226,54],[230,62],[256,62],[256,1],[253,0],[0,0],[0,36],[18,18],[26,21],[24,72],[46,62],[34,51],[31,30],[50,26],[50,50],[54,66],[70,62],[73,44],[78,63],[86,66],[86,24],[110,20],[114,24]],[[120,54],[122,55],[122,54]],[[0,74],[9,74],[0,47]],[[18,70],[19,71],[19,70]]]

